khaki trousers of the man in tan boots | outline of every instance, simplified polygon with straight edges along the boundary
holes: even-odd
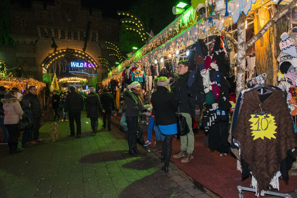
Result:
[[[192,118],[189,113],[181,113],[181,115],[185,117],[190,132],[185,136],[180,136],[180,150],[192,154],[194,151],[194,134],[192,129]]]

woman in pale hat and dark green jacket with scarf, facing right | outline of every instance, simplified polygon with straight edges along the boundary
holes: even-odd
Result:
[[[141,93],[141,86],[138,82],[131,83],[127,90],[123,92],[123,96],[126,103],[126,122],[128,127],[128,145],[129,154],[136,156],[139,154],[137,150],[137,126],[138,126],[138,116],[140,111],[150,107],[149,104],[143,104],[143,97]]]

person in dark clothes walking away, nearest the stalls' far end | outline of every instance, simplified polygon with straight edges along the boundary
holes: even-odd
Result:
[[[115,101],[113,95],[109,93],[108,88],[104,88],[103,94],[101,96],[101,103],[102,107],[105,110],[105,113],[103,114],[103,125],[102,127],[105,129],[106,128],[106,118],[108,119],[107,121],[107,128],[109,131],[111,131],[111,115],[112,115],[112,110],[115,110]]]

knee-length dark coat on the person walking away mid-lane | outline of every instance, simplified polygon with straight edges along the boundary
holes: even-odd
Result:
[[[99,117],[99,112],[103,110],[99,96],[94,92],[90,92],[87,96],[87,117]]]

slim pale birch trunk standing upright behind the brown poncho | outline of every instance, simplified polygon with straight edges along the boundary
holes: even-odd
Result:
[[[237,81],[236,81],[236,96],[244,90],[245,79],[245,15],[242,12],[238,22],[238,46],[237,46]]]

